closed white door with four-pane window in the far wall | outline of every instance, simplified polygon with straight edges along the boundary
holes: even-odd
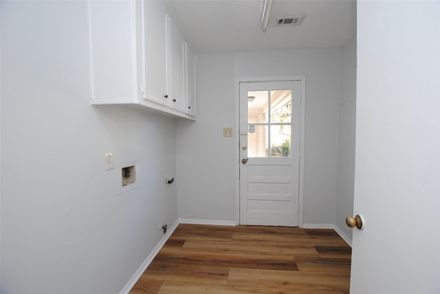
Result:
[[[240,223],[298,226],[300,82],[241,82]]]

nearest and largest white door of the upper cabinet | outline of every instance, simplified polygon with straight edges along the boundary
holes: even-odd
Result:
[[[159,1],[144,1],[146,99],[168,105],[169,17]]]

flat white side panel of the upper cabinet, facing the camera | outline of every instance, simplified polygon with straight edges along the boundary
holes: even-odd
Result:
[[[88,1],[92,104],[142,100],[135,1]]]

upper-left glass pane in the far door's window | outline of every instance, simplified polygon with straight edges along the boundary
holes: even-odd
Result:
[[[248,122],[267,122],[269,91],[248,91]]]

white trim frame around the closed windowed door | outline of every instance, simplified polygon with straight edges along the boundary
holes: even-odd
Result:
[[[305,151],[305,76],[270,76],[236,78],[235,80],[235,223],[240,224],[240,83],[276,82],[298,80],[300,82],[300,174],[298,191],[298,227],[303,227],[304,207],[304,151]]]

